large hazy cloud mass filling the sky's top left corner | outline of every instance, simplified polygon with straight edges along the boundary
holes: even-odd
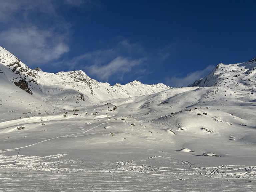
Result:
[[[98,1],[3,0],[0,43],[30,67],[56,61],[69,51],[72,23],[63,9],[98,5]],[[60,11],[61,10],[61,11]],[[61,13],[61,14],[60,14]]]

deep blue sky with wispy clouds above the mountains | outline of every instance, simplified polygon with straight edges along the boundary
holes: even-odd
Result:
[[[1,0],[0,46],[45,72],[187,86],[256,57],[254,0]]]

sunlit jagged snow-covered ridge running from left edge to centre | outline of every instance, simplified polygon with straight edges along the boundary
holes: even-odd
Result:
[[[36,97],[59,97],[65,102],[73,98],[80,102],[95,104],[117,98],[154,94],[170,87],[164,84],[144,85],[133,81],[126,85],[119,83],[111,86],[91,79],[83,71],[46,73],[40,68],[30,69],[9,51],[0,47],[0,73],[2,77],[14,83]]]

